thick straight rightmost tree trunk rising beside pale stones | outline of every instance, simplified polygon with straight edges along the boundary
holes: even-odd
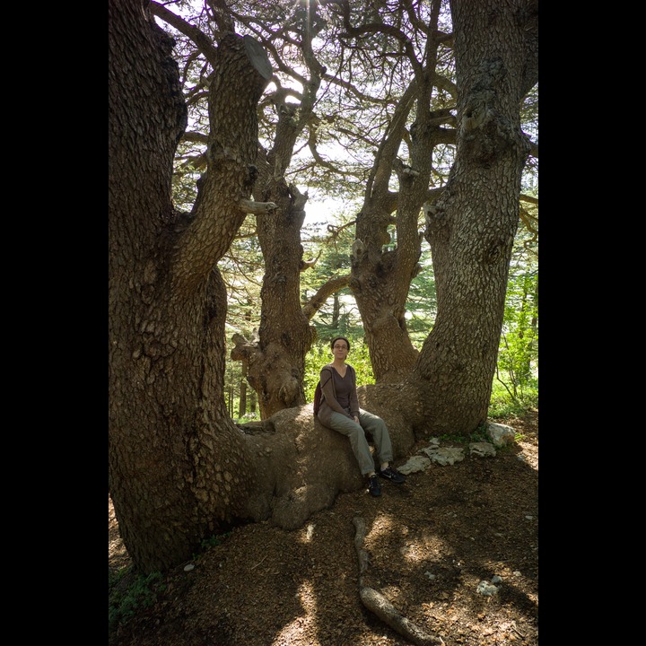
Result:
[[[456,161],[427,209],[438,315],[415,365],[426,432],[473,432],[484,423],[502,330],[520,176],[529,153],[520,129],[537,83],[537,2],[452,0],[458,81]]]

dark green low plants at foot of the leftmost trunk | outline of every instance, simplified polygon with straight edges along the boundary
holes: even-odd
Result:
[[[108,579],[108,628],[126,624],[141,608],[151,607],[157,594],[165,589],[162,572],[147,576],[135,575],[131,568],[118,572],[109,571]]]

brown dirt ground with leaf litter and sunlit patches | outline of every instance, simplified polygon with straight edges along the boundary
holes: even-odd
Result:
[[[461,462],[432,463],[405,485],[382,480],[380,498],[342,493],[292,532],[235,528],[170,572],[156,603],[109,645],[408,646],[436,635],[447,646],[537,646],[538,412],[502,423],[521,439],[494,457],[465,450]],[[449,446],[459,445],[441,441]],[[123,568],[110,501],[108,528],[109,568]],[[362,603],[361,554],[362,586],[392,604],[399,625],[414,626],[417,642]]]

